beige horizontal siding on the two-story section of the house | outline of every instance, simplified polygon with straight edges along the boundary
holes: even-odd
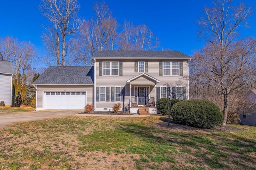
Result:
[[[100,61],[122,61],[122,76],[99,76],[99,62]],[[160,80],[159,83],[156,84],[157,87],[164,86],[168,83],[170,86],[185,86],[186,87],[186,96],[188,95],[188,80],[183,79],[183,77],[188,77],[188,64],[187,59],[96,59],[96,87],[99,86],[107,86],[110,87],[110,102],[96,102],[96,108],[111,108],[114,104],[118,102],[111,102],[111,87],[114,86],[125,86],[125,101],[124,105],[129,104],[130,101],[130,84],[126,83],[127,80],[138,76],[142,72],[134,72],[134,63],[135,62],[148,62],[148,74],[153,78]],[[183,76],[159,76],[159,62],[183,62]],[[103,68],[102,68],[103,72]],[[150,96],[155,97],[155,89],[154,89],[154,81],[146,76],[142,76],[138,79],[135,79],[131,82],[132,84],[132,96],[134,96],[134,86],[150,86]],[[120,102],[121,106],[123,106],[123,102]]]

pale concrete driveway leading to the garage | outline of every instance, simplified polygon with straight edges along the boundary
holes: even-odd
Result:
[[[20,113],[0,113],[0,127],[26,121],[70,116],[83,111],[84,110],[40,110]]]

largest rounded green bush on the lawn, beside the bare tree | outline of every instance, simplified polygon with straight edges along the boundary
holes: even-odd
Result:
[[[174,121],[200,128],[211,128],[223,121],[220,108],[206,100],[178,102],[171,108],[171,115]]]

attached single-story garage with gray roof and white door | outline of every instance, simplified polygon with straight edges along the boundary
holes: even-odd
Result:
[[[93,104],[93,66],[50,66],[33,83],[36,110],[84,110]]]

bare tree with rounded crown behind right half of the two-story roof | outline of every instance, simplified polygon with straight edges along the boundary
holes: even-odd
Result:
[[[158,37],[154,37],[148,26],[145,24],[134,26],[128,21],[124,22],[120,39],[121,50],[149,51],[160,44]]]

